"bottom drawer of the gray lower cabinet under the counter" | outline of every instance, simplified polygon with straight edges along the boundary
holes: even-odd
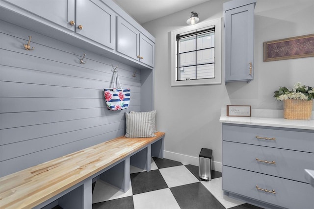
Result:
[[[256,188],[272,190],[276,194]],[[222,189],[288,209],[312,209],[314,188],[310,184],[223,166]]]

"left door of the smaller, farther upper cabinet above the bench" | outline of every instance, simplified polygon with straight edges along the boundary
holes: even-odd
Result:
[[[117,24],[117,51],[138,60],[139,31],[120,17],[118,17]]]

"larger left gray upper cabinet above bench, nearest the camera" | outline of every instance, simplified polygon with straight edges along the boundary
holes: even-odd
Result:
[[[5,0],[39,22],[67,28],[100,46],[114,49],[115,13],[101,0]],[[92,12],[91,12],[92,11]],[[27,15],[27,14],[26,14]],[[79,37],[78,36],[78,37]]]

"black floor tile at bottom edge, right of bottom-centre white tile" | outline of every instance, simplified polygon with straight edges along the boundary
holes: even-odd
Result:
[[[181,209],[225,209],[200,182],[170,188]]]

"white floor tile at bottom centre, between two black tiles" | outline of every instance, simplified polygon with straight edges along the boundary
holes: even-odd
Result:
[[[133,195],[135,209],[180,209],[169,188]]]

